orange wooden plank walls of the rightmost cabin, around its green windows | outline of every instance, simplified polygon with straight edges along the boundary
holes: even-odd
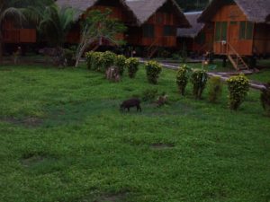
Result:
[[[270,25],[266,23],[248,22],[247,16],[237,4],[224,5],[212,19],[215,22],[215,37],[219,22],[227,23],[227,33],[224,42],[216,40],[213,43],[214,53],[217,55],[232,54],[234,48],[240,56],[270,54]],[[241,37],[241,24],[252,25],[252,35],[248,38]]]

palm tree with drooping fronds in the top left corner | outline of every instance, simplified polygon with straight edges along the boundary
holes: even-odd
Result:
[[[6,19],[22,24],[23,21],[39,22],[39,11],[54,0],[0,0],[0,63],[3,60],[3,23]]]

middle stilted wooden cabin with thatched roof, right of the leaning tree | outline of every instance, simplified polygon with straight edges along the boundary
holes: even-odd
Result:
[[[126,4],[137,18],[126,35],[130,45],[176,48],[177,28],[190,27],[175,0],[126,0]]]

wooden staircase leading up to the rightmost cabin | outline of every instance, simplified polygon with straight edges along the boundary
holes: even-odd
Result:
[[[228,48],[230,51],[228,52],[227,57],[230,63],[232,64],[232,66],[238,71],[248,70],[249,66],[247,66],[247,63],[245,62],[243,57],[241,57],[238,54],[235,48],[233,48],[229,43],[228,43]]]

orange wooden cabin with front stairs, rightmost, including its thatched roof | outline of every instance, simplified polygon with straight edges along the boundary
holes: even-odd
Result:
[[[214,53],[239,70],[248,68],[243,57],[270,54],[269,13],[269,0],[212,0],[198,21],[214,23]]]

